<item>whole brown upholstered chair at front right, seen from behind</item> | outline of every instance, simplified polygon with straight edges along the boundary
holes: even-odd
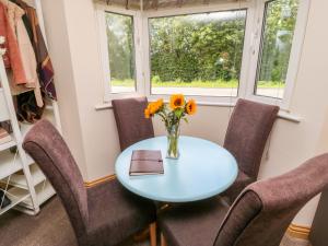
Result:
[[[327,185],[324,154],[249,185],[230,209],[209,200],[166,210],[160,214],[160,227],[168,246],[279,246],[296,213]]]

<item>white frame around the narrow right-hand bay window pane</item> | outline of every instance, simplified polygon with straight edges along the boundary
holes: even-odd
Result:
[[[278,105],[283,110],[290,109],[291,99],[294,92],[295,82],[297,80],[298,66],[302,58],[303,43],[305,38],[306,24],[309,11],[311,0],[300,0],[296,23],[294,28],[294,36],[292,42],[292,49],[290,54],[289,67],[285,79],[285,87],[282,98],[269,97],[265,95],[256,95],[256,77],[258,66],[261,63],[260,52],[262,47],[262,36],[266,24],[266,3],[274,0],[260,0],[257,3],[256,23],[253,32],[251,58],[249,61],[249,77],[247,80],[247,92],[245,97],[255,102]]]

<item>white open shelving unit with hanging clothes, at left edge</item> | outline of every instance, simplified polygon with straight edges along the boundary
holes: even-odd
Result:
[[[45,36],[40,1],[30,0],[28,3],[36,8]],[[22,148],[23,139],[33,125],[17,121],[2,56],[0,56],[0,121],[9,120],[13,129],[12,141],[0,144],[0,184],[7,188],[5,195],[11,200],[10,206],[0,209],[0,215],[10,209],[36,214],[40,204],[56,192],[37,164]],[[50,105],[46,106],[43,117],[51,121],[61,132],[57,102],[50,102]],[[16,153],[11,153],[10,149],[13,147],[16,147]]]

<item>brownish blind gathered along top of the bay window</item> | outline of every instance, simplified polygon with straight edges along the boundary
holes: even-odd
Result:
[[[118,4],[125,7],[126,9],[141,9],[143,10],[156,10],[163,8],[180,8],[190,7],[199,4],[210,4],[218,2],[236,2],[238,0],[96,0],[97,2],[103,2],[106,4]],[[245,1],[245,0],[244,0]]]

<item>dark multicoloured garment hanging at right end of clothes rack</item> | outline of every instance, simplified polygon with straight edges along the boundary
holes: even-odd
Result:
[[[37,71],[39,74],[42,90],[50,99],[57,99],[56,87],[54,83],[54,68],[48,55],[47,46],[43,37],[36,10],[22,0],[12,0],[19,4],[22,9],[25,10],[27,17],[30,20],[33,33],[32,44],[34,47],[36,61],[37,61]],[[28,27],[26,27],[28,30]]]

